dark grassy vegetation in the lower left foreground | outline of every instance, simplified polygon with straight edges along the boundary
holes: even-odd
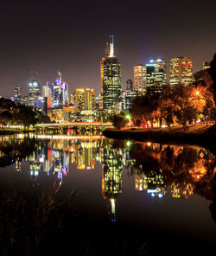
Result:
[[[55,184],[37,195],[11,185],[0,190],[1,255],[138,255],[149,250],[145,235],[125,233],[79,212],[74,191],[63,199],[65,191]]]

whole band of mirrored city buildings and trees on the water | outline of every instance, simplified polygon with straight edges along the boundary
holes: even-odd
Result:
[[[22,170],[23,159],[29,162],[34,186],[38,184],[41,173],[55,176],[61,184],[69,172],[70,163],[78,171],[94,170],[96,163],[101,163],[102,195],[108,202],[113,221],[116,218],[118,195],[122,193],[124,166],[130,177],[134,175],[137,191],[158,198],[168,192],[174,198],[188,198],[193,195],[198,182],[206,182],[209,167],[214,163],[209,150],[198,147],[139,143],[136,148],[136,144],[130,141],[119,143],[118,146],[115,143],[114,146],[112,140],[101,136],[68,138],[39,135],[33,143],[35,149],[32,147],[34,150],[29,156],[23,154],[23,149],[29,147],[30,140],[25,141],[20,136],[16,136],[14,142],[7,137],[0,138],[0,158],[9,164],[15,163],[17,172]],[[7,148],[13,150],[9,153],[5,150]]]

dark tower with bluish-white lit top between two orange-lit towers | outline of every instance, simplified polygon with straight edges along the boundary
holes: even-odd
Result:
[[[154,96],[160,96],[162,86],[167,83],[166,61],[161,58],[151,59],[146,64],[147,74],[147,93]]]

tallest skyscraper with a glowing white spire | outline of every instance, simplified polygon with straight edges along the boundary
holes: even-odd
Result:
[[[108,114],[120,111],[121,106],[121,68],[117,57],[114,55],[113,35],[110,35],[109,51],[100,62],[101,77],[101,107]]]

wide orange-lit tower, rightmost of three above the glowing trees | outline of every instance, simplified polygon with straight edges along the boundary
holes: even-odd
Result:
[[[176,57],[169,62],[169,84],[189,85],[193,80],[193,61],[187,57]]]

